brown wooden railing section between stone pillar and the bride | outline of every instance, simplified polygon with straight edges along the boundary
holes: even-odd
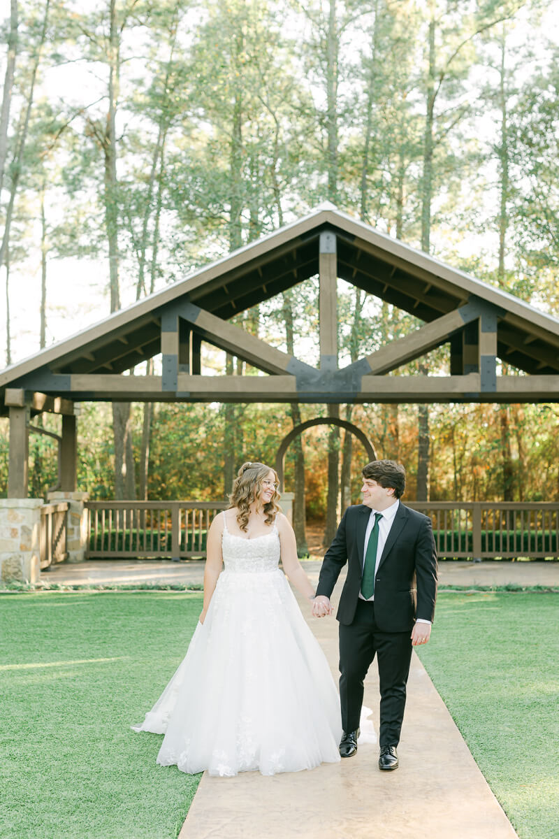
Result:
[[[206,534],[225,501],[90,501],[87,557],[205,556]]]

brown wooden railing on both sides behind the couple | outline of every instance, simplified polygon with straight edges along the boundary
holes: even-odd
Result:
[[[88,502],[86,555],[204,558],[210,524],[227,506],[225,501]],[[441,559],[559,557],[559,503],[441,501],[408,506],[432,519]]]

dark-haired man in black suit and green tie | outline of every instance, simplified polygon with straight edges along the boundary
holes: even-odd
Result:
[[[324,555],[313,614],[332,612],[329,597],[348,562],[339,598],[339,753],[357,751],[363,680],[377,657],[380,679],[379,769],[397,769],[411,647],[427,644],[437,595],[431,519],[405,507],[406,470],[396,461],[363,469],[363,503],[349,507]]]

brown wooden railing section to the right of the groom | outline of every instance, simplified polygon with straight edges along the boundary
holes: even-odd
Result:
[[[432,519],[441,559],[559,557],[559,504],[411,502]]]

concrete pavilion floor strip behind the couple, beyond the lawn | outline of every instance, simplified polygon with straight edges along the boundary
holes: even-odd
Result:
[[[303,561],[303,568],[314,584],[322,560]],[[204,579],[204,562],[200,560],[87,560],[75,565],[62,562],[41,579],[65,586],[133,585],[152,582],[179,585],[200,585]],[[439,563],[439,586],[559,586],[559,562],[456,562]]]

